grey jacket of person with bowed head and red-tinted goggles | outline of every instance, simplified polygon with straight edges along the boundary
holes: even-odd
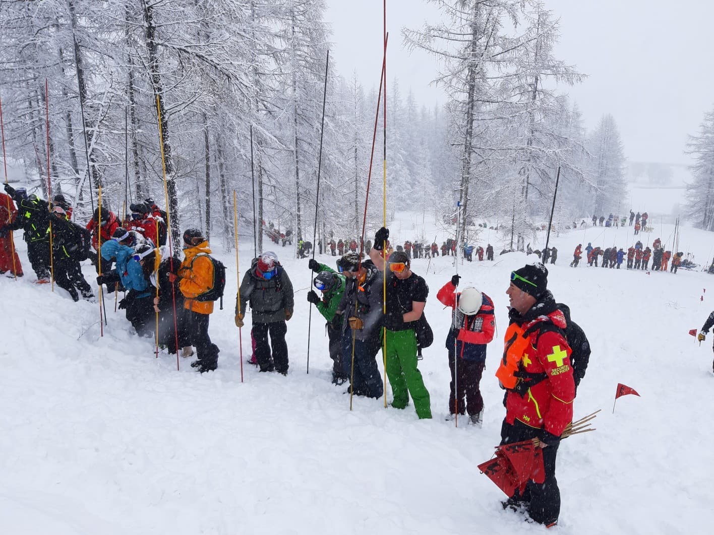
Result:
[[[295,305],[293,299],[293,284],[290,277],[278,265],[278,273],[270,280],[256,275],[258,259],[253,259],[251,269],[243,275],[241,282],[241,312],[246,313],[246,303],[250,302],[253,309],[253,323],[274,323],[285,321],[285,311],[292,312]],[[236,314],[238,313],[238,297],[236,296]]]

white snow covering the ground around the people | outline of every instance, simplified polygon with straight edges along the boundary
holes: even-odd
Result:
[[[397,218],[393,243],[418,238],[421,217]],[[663,242],[672,230],[662,226]],[[446,235],[427,219],[426,235],[437,233],[441,244]],[[688,330],[699,329],[712,310],[714,285],[708,283],[714,278],[684,270],[648,275],[624,265],[568,267],[578,243],[616,242],[626,249],[634,241],[626,228],[575,230],[551,240],[559,254],[557,265],[548,265],[549,287],[570,305],[593,347],[575,418],[603,409],[595,432],[560,446],[563,506],[553,532],[708,533],[714,514],[714,430],[707,412],[712,335],[700,347]],[[505,412],[493,373],[508,325],[508,274],[535,257],[498,256],[491,242],[496,262],[458,267],[461,287],[476,285],[493,299],[498,332],[481,382],[483,429],[465,419],[456,429],[444,421],[450,315],[436,301],[453,275],[452,258],[433,259],[428,273],[428,260],[413,261],[431,288],[426,313],[435,332],[420,362],[434,418],[420,421],[411,405],[385,409],[382,399],[355,398],[350,411],[345,386],[330,384],[323,321],[314,310],[305,373],[310,272],[307,260],[287,258],[288,248],[276,253],[297,290],[288,322],[290,372],[258,374],[244,364],[241,383],[230,297],[234,253],[214,249],[228,267],[228,297],[209,330],[221,348],[218,370],[200,375],[189,367],[191,359],[181,359],[179,372],[175,356],[156,359],[153,340],[136,337],[122,311],[114,313],[113,295],[105,296],[109,325],[100,337],[98,305],[32,284],[24,243],[16,243],[27,275],[0,277],[3,533],[543,532],[503,511],[503,494],[476,467],[493,454]],[[681,243],[708,265],[710,233],[684,228]],[[251,252],[252,243],[241,248],[241,272]],[[93,269],[84,266],[88,279]],[[249,347],[243,329],[244,359]],[[641,397],[618,399],[612,414],[618,382]]]

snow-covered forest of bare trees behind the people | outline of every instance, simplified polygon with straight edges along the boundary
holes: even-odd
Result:
[[[447,101],[427,108],[398,79],[327,61],[338,36],[322,0],[2,1],[7,159],[80,222],[100,188],[116,213],[167,198],[174,243],[192,225],[226,248],[233,190],[258,250],[270,225],[360,235],[370,173],[368,227],[380,226],[383,161],[388,218],[428,211],[452,225],[459,201],[463,235],[497,226],[505,248],[547,222],[558,168],[558,225],[627,210],[615,118],[585,131],[567,93],[585,74],[555,57],[558,15],[538,0],[433,3],[441,21],[392,37],[433,56]]]

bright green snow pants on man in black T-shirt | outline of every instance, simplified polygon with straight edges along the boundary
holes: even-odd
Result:
[[[409,402],[409,394],[414,400],[414,408],[419,418],[431,418],[431,400],[424,386],[421,372],[416,367],[416,335],[411,329],[391,331],[386,329],[387,377],[392,387],[394,399],[392,407],[403,409]]]

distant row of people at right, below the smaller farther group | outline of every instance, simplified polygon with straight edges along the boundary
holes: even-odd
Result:
[[[595,265],[595,267],[598,267],[598,259],[600,259],[600,265],[602,267],[616,267],[618,270],[620,269],[620,265],[625,262],[625,258],[627,259],[626,267],[628,270],[648,270],[651,259],[653,271],[667,271],[671,260],[672,264],[669,270],[670,272],[676,273],[683,263],[684,253],[678,252],[673,255],[672,251],[665,250],[665,248],[662,247],[662,240],[657,238],[652,243],[652,248],[643,248],[643,243],[638,240],[635,245],[631,245],[627,251],[617,247],[608,247],[605,249],[593,247],[593,245],[588,242],[587,247],[585,247],[585,255],[588,260],[588,265],[590,266]],[[582,258],[583,244],[578,243],[573,251],[573,261],[570,263],[570,267],[578,267]]]

